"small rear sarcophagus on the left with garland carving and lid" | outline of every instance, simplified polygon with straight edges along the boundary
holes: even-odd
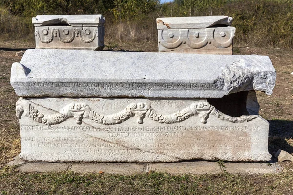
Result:
[[[102,15],[38,15],[33,17],[36,49],[104,48],[104,23]]]

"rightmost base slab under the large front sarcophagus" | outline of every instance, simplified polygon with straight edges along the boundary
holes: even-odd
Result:
[[[277,163],[242,163],[242,162],[227,162],[225,163],[226,172],[231,174],[269,174],[277,173],[282,170]]]

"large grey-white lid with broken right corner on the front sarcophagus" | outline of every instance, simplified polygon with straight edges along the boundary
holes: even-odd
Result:
[[[18,96],[221,98],[272,94],[268,56],[26,50],[11,69]]]

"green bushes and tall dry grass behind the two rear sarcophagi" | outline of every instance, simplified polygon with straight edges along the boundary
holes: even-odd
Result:
[[[31,17],[40,14],[103,14],[105,42],[156,42],[156,18],[228,15],[234,43],[293,48],[293,0],[1,0],[0,39],[34,40]]]

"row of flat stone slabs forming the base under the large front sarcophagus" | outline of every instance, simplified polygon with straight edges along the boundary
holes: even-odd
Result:
[[[218,162],[192,161],[174,163],[68,163],[68,162],[25,162],[16,156],[8,166],[18,166],[21,172],[63,172],[74,171],[77,173],[105,173],[105,174],[140,174],[167,172],[170,174],[268,174],[282,171],[281,166],[272,163],[224,163],[221,167]]]

